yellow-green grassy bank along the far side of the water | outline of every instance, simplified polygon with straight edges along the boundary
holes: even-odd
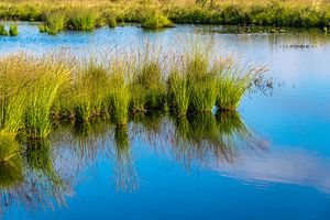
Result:
[[[330,26],[329,0],[4,0],[1,20],[44,21],[43,31],[91,30],[118,22]],[[54,26],[55,25],[55,26]]]

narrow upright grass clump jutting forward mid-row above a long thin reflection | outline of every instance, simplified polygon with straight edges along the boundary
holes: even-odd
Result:
[[[109,110],[118,125],[125,125],[129,118],[131,92],[127,81],[128,66],[125,61],[116,61],[110,67]]]

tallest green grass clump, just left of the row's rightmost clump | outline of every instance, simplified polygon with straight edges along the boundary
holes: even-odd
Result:
[[[215,107],[218,88],[210,68],[211,46],[190,42],[170,67],[168,99],[178,116],[185,116],[188,111],[211,112]]]

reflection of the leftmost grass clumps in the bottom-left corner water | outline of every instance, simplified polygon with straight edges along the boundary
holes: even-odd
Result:
[[[66,206],[72,195],[72,178],[62,176],[54,166],[50,141],[24,143],[23,161],[1,164],[0,210],[34,211]]]

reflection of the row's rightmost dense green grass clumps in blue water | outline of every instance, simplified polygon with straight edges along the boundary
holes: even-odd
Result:
[[[238,112],[174,119],[174,153],[185,166],[191,163],[207,166],[215,161],[233,163],[237,139],[251,135]]]

